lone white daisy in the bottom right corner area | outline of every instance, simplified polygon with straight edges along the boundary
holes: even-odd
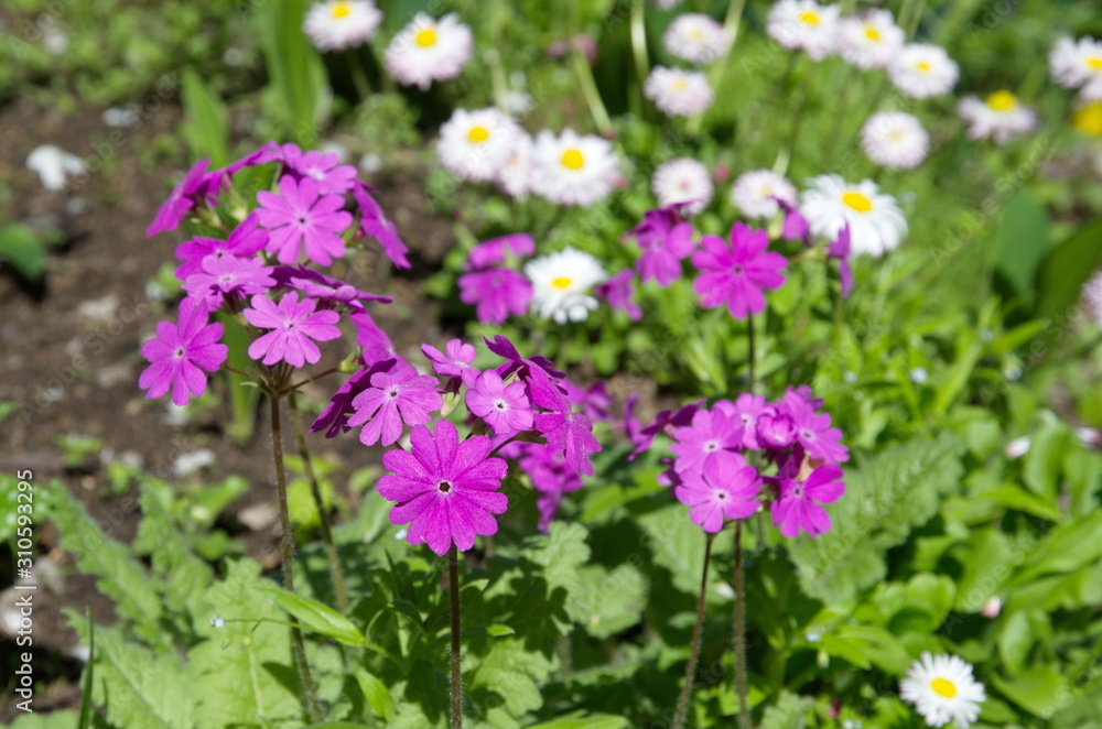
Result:
[[[986,699],[970,664],[960,656],[930,655],[928,651],[907,668],[907,677],[899,682],[899,696],[915,705],[928,727],[955,721],[959,729],[976,720]]]

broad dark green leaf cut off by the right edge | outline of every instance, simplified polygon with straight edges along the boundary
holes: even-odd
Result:
[[[1068,318],[1068,309],[1102,265],[1102,218],[1084,224],[1045,257],[1037,271],[1037,313]]]

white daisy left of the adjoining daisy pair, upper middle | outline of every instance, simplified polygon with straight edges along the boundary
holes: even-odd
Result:
[[[440,128],[436,156],[463,179],[485,182],[497,177],[512,153],[512,138],[520,129],[496,108],[456,109]]]

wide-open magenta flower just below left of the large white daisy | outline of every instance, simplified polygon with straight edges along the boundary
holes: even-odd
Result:
[[[745,319],[765,311],[763,289],[777,289],[785,283],[779,273],[788,265],[780,253],[766,251],[769,236],[736,222],[731,229],[731,246],[719,236],[701,239],[704,250],[692,254],[701,273],[693,291],[701,295],[701,306],[715,308],[727,305],[731,316]]]

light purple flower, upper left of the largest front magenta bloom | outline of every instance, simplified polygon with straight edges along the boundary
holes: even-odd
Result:
[[[431,374],[418,374],[412,364],[396,362],[389,372],[372,374],[370,387],[356,395],[352,403],[356,413],[348,425],[367,423],[359,433],[364,445],[389,446],[401,437],[403,424],[423,425],[432,420],[429,413],[444,406],[437,385]]]

